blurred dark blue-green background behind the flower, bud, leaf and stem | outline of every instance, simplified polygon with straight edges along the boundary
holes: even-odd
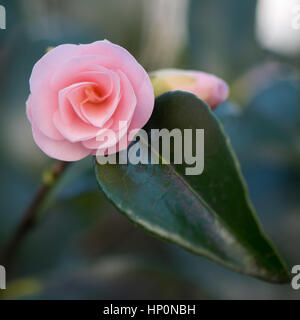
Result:
[[[215,73],[231,87],[216,111],[251,199],[289,268],[300,264],[298,0],[7,0],[0,30],[0,250],[53,163],[25,115],[28,79],[49,46],[109,39],[147,70]],[[299,21],[300,19],[298,19]],[[295,22],[295,21],[294,21]],[[7,270],[9,299],[299,299],[160,241],[98,190],[92,159],[74,163]]]

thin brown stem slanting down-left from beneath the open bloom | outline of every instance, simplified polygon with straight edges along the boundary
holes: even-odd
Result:
[[[55,164],[52,170],[45,173],[42,185],[40,186],[34,198],[32,199],[29,207],[24,212],[20,224],[16,228],[14,234],[12,235],[11,239],[8,241],[6,247],[3,250],[0,262],[5,267],[8,267],[8,265],[12,262],[24,238],[34,227],[39,215],[39,210],[44,200],[47,198],[51,190],[57,184],[59,178],[61,177],[62,173],[64,172],[68,164],[69,162],[59,161]]]

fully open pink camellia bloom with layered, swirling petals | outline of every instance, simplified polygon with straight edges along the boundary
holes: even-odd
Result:
[[[60,45],[35,64],[30,77],[27,115],[34,140],[59,160],[80,160],[112,145],[126,148],[127,131],[142,128],[153,106],[146,71],[107,40]],[[106,141],[107,130],[117,140]]]

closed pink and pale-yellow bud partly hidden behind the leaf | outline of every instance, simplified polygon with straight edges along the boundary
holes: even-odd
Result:
[[[182,90],[195,94],[212,109],[225,101],[229,88],[222,79],[205,72],[163,69],[151,73],[155,96],[166,91]]]

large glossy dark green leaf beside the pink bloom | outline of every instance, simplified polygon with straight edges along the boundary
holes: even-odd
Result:
[[[99,165],[97,181],[128,219],[155,236],[235,271],[271,282],[288,272],[259,226],[239,164],[222,126],[194,95],[156,99],[147,130],[204,129],[205,168],[185,175],[181,165]]]

